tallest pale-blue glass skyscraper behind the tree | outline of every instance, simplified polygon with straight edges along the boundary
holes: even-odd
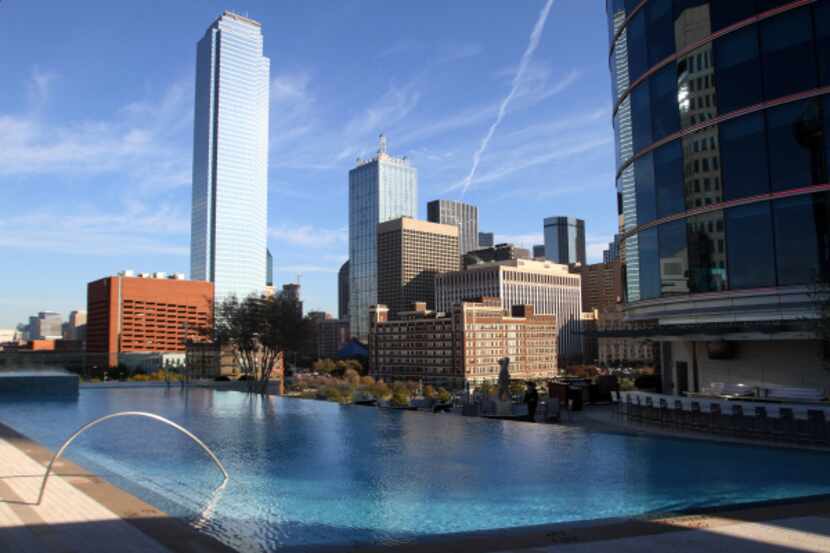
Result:
[[[226,11],[198,43],[190,273],[216,302],[267,278],[269,75],[257,21]]]

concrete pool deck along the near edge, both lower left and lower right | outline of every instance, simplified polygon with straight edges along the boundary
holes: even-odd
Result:
[[[52,452],[0,424],[0,551],[20,553],[231,553],[214,538],[105,482],[56,463],[35,505]],[[425,536],[386,546],[288,547],[295,553],[830,552],[830,496],[742,507]]]

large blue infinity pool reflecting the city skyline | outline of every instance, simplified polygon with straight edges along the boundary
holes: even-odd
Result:
[[[830,493],[821,453],[205,389],[4,401],[0,421],[55,449],[82,424],[124,410],[168,417],[216,452],[231,480],[200,526],[246,552]],[[67,456],[191,520],[221,481],[202,450],[151,420],[107,421]]]

